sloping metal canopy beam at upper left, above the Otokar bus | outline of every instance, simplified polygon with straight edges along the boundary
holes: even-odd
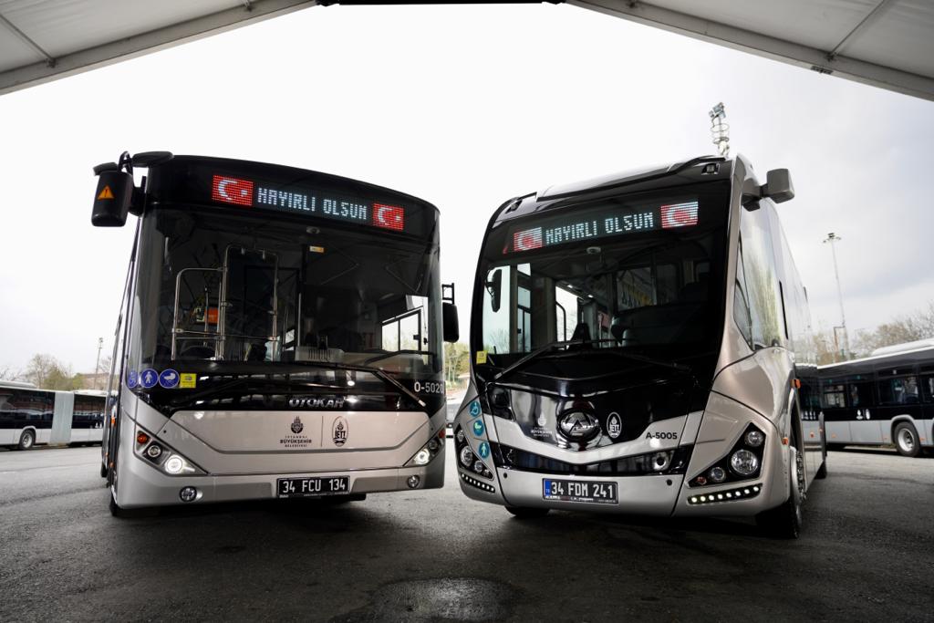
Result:
[[[242,7],[234,7],[191,21],[179,22],[149,31],[149,33],[127,37],[89,50],[65,54],[58,58],[50,58],[43,51],[43,55],[46,56],[45,61],[0,72],[0,94],[18,91],[107,64],[118,63],[179,43],[217,35],[249,23],[267,20],[306,7],[314,7],[317,4],[319,3],[315,0],[249,0]],[[17,33],[25,36],[19,33],[19,30]]]

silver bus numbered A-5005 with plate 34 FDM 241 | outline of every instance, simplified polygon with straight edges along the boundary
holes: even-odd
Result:
[[[755,516],[796,537],[826,474],[807,295],[775,203],[738,157],[548,188],[480,252],[460,487],[549,509]]]

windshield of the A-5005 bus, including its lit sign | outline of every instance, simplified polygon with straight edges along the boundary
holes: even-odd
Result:
[[[506,220],[483,251],[473,347],[501,370],[564,341],[666,360],[715,351],[728,207],[729,184],[714,182]]]

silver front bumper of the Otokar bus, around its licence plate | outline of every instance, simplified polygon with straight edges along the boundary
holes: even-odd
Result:
[[[441,488],[445,482],[445,453],[441,452],[428,465],[419,467],[390,467],[384,469],[289,473],[289,474],[235,474],[169,476],[132,453],[120,456],[116,502],[120,508],[142,508],[175,504],[205,504],[275,500],[280,478],[334,478],[346,476],[348,495],[358,496],[382,491],[408,491],[422,488]],[[411,487],[409,478],[417,476],[417,485]],[[183,488],[195,488],[195,499],[185,503],[181,499]],[[339,499],[343,495],[322,496]]]

